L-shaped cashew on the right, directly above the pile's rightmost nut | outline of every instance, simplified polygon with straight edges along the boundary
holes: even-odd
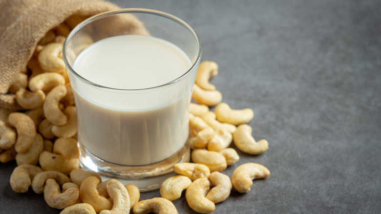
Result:
[[[267,140],[262,139],[258,142],[252,136],[253,129],[251,126],[242,124],[237,127],[233,133],[234,145],[241,151],[248,154],[260,154],[269,149]]]

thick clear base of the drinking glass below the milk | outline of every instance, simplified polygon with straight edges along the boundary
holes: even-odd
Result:
[[[134,184],[141,192],[157,190],[165,179],[174,175],[173,165],[189,162],[190,147],[185,146],[164,161],[145,166],[123,166],[106,162],[94,156],[79,143],[79,162],[82,169],[95,171],[102,175],[102,180],[117,179],[123,184]]]

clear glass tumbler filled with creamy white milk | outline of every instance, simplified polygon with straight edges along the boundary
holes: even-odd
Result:
[[[63,60],[81,167],[145,179],[189,161],[189,104],[201,53],[194,30],[160,11],[122,9],[78,24],[63,44]]]

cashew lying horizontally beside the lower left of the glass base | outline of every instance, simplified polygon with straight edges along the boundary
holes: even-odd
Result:
[[[42,151],[39,158],[40,166],[43,170],[60,171],[69,174],[70,171],[79,168],[78,158],[65,158],[62,154],[54,154],[49,151]]]

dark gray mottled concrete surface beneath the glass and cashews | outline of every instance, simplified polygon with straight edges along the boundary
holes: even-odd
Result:
[[[223,101],[253,108],[253,136],[269,141],[224,173],[256,162],[271,175],[214,213],[381,213],[380,0],[112,1],[193,26],[202,59],[219,64]],[[42,194],[11,190],[15,166],[0,164],[0,213],[60,213]],[[194,213],[185,197],[174,204]]]

